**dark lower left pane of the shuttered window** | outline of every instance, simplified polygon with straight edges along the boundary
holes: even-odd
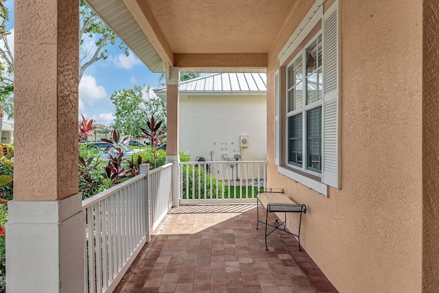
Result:
[[[288,163],[302,167],[302,113],[288,117]]]

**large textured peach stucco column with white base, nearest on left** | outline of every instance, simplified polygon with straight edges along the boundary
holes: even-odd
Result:
[[[15,1],[8,292],[84,291],[78,194],[79,1]]]

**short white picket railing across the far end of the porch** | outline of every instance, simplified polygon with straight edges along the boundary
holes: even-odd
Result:
[[[180,163],[180,204],[255,202],[267,183],[267,161]]]

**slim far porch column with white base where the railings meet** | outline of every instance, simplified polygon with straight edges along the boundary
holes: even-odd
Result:
[[[166,161],[172,166],[172,207],[178,207],[180,176],[178,176],[178,114],[180,99],[180,68],[168,67],[166,71]]]

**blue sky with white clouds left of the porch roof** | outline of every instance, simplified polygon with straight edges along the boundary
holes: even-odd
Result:
[[[6,1],[5,6],[10,13],[6,30],[12,30],[12,34],[8,36],[8,42],[12,45],[14,1]],[[108,59],[99,60],[88,67],[80,82],[80,114],[87,119],[93,119],[97,124],[108,125],[113,122],[115,107],[110,101],[110,95],[115,91],[132,89],[134,84],[158,87],[160,73],[152,73],[131,51],[130,56],[126,57],[117,45],[108,45]]]

